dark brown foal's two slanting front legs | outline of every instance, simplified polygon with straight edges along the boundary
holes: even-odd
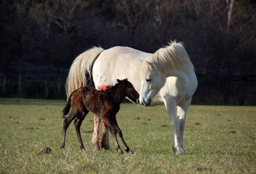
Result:
[[[127,152],[127,153],[133,153],[129,147],[127,146],[127,144],[125,143],[124,141],[124,138],[123,138],[123,133],[121,131],[121,129],[118,127],[118,124],[117,124],[117,121],[116,121],[116,116],[114,116],[113,118],[107,118],[105,119],[106,121],[106,124],[107,126],[109,127],[110,129],[110,133],[112,134],[112,136],[114,137],[114,142],[115,142],[115,148],[117,150],[117,152],[123,154],[123,151],[121,150],[119,144],[118,144],[118,141],[117,141],[117,137],[116,135],[121,139],[122,141],[122,144],[124,146],[124,150]]]

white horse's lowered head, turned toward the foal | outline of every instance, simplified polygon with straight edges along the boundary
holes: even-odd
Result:
[[[143,106],[149,106],[153,102],[153,98],[164,86],[166,77],[157,71],[154,64],[146,60],[141,67],[140,103]]]

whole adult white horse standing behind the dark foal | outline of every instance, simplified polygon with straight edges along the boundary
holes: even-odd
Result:
[[[95,88],[107,90],[116,79],[128,79],[140,91],[143,106],[165,105],[169,115],[173,153],[185,154],[183,131],[191,97],[197,88],[194,66],[181,43],[173,41],[154,54],[129,47],[113,47],[104,50],[93,47],[79,55],[70,67],[66,82],[67,96],[86,85],[86,72],[93,78]],[[177,107],[177,112],[176,112]],[[108,127],[94,116],[92,146],[94,150],[111,150],[108,142]]]

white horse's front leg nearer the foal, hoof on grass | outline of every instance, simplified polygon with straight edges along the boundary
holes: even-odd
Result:
[[[183,149],[183,144],[179,143],[179,124],[176,117],[176,102],[173,100],[166,100],[165,107],[167,114],[169,115],[171,129],[172,129],[172,150],[174,154],[186,154],[186,151]],[[183,139],[183,138],[182,138]],[[183,140],[182,140],[183,142]]]

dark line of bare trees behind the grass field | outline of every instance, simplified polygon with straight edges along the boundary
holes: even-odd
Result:
[[[194,103],[256,103],[253,0],[3,0],[0,19],[0,97],[66,99],[84,50],[154,53],[177,39],[197,71]]]

